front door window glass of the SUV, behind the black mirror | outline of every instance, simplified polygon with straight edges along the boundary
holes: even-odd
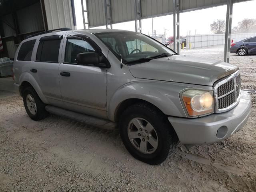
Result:
[[[84,52],[95,52],[95,50],[84,40],[68,39],[65,50],[65,62],[76,63],[76,55]]]

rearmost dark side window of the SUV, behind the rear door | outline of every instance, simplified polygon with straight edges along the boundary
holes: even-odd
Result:
[[[32,51],[36,40],[30,40],[22,43],[17,59],[19,61],[31,61]]]

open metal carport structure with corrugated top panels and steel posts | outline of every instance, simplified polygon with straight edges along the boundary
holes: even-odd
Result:
[[[83,20],[89,28],[102,25],[112,28],[112,24],[135,20],[135,30],[141,32],[141,19],[173,14],[174,50],[179,52],[180,13],[227,5],[224,61],[229,62],[233,3],[243,1],[246,0],[86,0],[84,12],[88,22],[84,17]]]

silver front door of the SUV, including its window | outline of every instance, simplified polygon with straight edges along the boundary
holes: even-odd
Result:
[[[86,38],[70,35],[64,42],[64,62],[60,64],[60,91],[65,108],[106,117],[106,68],[76,64],[76,55],[95,52]]]

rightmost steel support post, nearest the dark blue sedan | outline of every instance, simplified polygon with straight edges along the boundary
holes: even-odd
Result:
[[[229,62],[229,58],[230,58],[232,12],[233,12],[233,0],[228,0],[227,13],[226,13],[227,15],[226,15],[224,62]]]

